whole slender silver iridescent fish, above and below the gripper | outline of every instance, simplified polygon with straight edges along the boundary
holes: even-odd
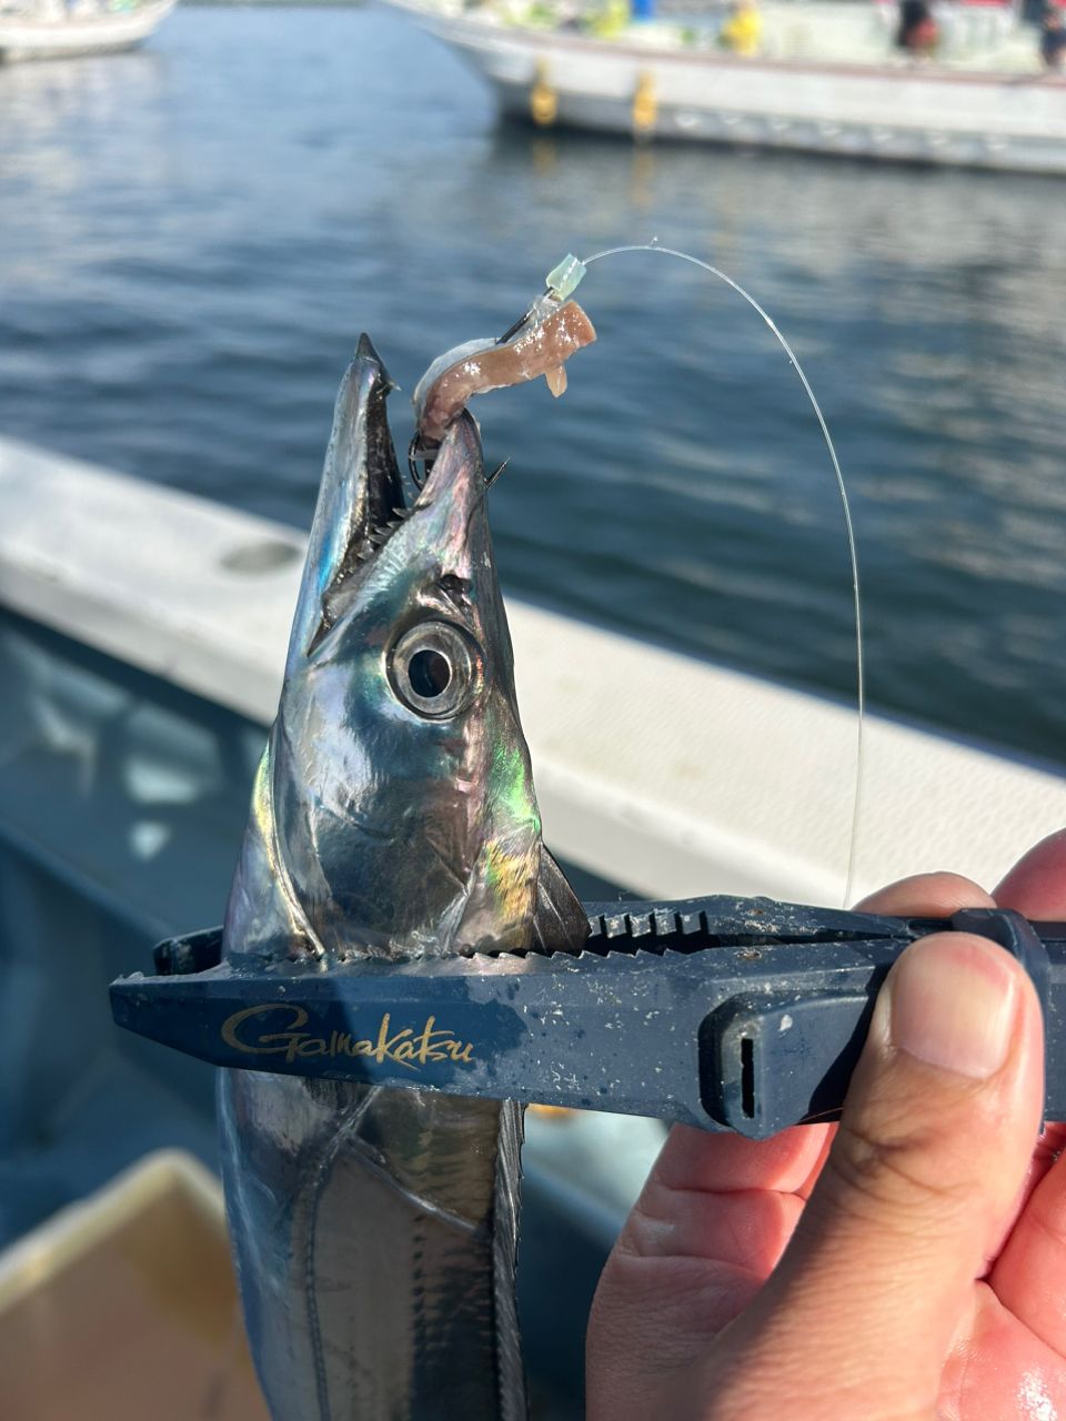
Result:
[[[540,841],[476,425],[458,416],[405,509],[389,388],[364,337],[227,908],[233,963],[513,951],[584,924]],[[276,1421],[523,1417],[519,1108],[223,1071],[219,1110]]]

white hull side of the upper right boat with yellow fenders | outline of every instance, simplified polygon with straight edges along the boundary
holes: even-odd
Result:
[[[530,118],[542,85],[551,122],[573,128],[1066,173],[1066,84],[1035,68],[742,60],[404,7],[458,48],[517,117]]]

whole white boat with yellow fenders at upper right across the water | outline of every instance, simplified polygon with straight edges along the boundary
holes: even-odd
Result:
[[[505,114],[544,129],[1066,173],[1066,82],[998,6],[941,6],[937,57],[917,60],[894,48],[895,6],[880,3],[766,4],[752,55],[708,26],[604,36],[543,3],[391,3],[468,60]]]

